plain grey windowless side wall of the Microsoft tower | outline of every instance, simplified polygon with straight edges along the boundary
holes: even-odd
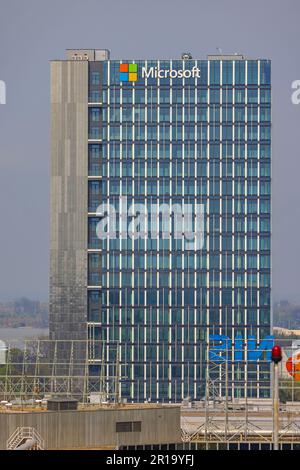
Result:
[[[88,62],[51,62],[50,338],[87,335]]]

